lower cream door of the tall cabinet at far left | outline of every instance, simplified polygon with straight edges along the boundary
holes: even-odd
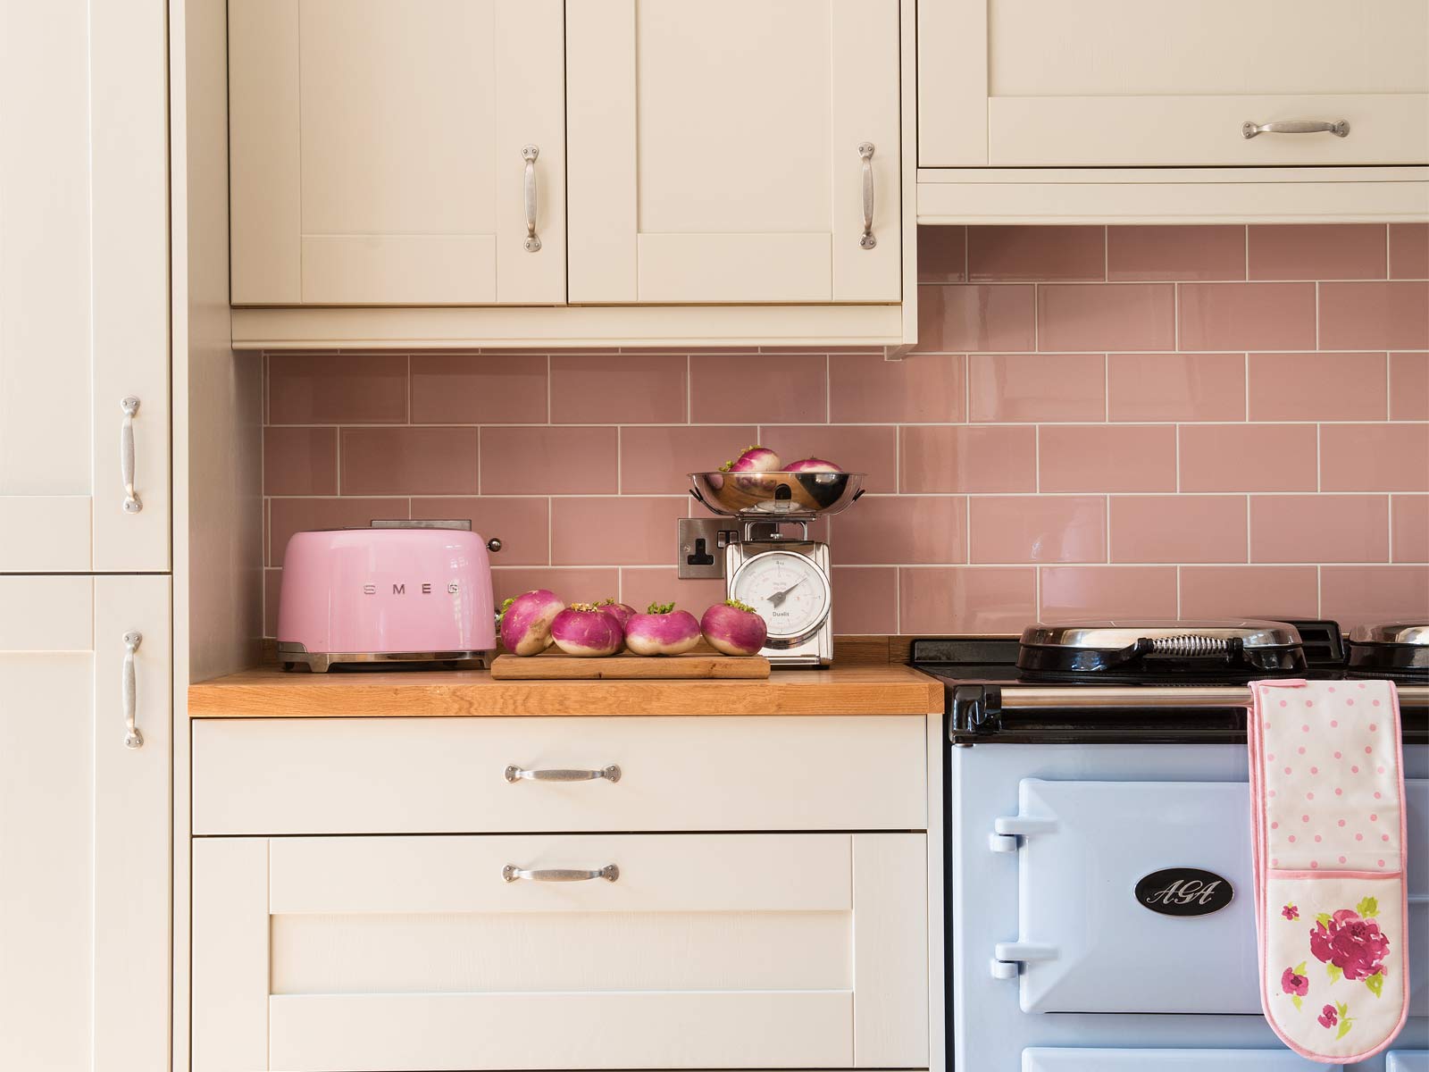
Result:
[[[159,1072],[169,579],[7,576],[0,606],[0,1068]]]

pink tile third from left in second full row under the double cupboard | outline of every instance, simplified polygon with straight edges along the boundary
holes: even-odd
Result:
[[[482,493],[614,493],[616,439],[613,427],[483,427]]]

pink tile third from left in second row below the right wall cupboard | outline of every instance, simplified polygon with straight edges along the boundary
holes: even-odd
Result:
[[[1315,349],[1313,283],[1182,283],[1177,292],[1182,350]]]

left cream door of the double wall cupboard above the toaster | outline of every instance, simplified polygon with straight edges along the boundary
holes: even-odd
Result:
[[[233,303],[564,302],[562,49],[560,0],[233,0]]]

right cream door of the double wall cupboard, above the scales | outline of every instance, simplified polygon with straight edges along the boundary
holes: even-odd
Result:
[[[566,17],[572,302],[899,300],[897,0]]]

